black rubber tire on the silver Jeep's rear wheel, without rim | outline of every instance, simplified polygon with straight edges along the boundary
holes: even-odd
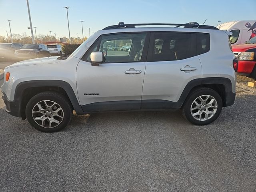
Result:
[[[203,96],[203,95],[212,96],[217,103],[217,109],[216,110],[213,108],[209,108],[209,110],[206,109],[207,110],[206,112],[211,111],[211,110],[215,111],[215,114],[213,114],[212,116],[211,116],[211,114],[209,114],[210,118],[208,119],[208,115],[206,115],[206,113],[204,113],[204,110],[202,110],[203,108],[207,107],[207,104],[204,104],[204,106],[200,106],[200,109],[198,109],[198,111],[200,111],[200,110],[202,111],[203,114],[201,117],[206,118],[206,116],[207,116],[207,118],[206,118],[207,120],[200,121],[200,120],[195,119],[196,117],[194,118],[192,116],[191,107],[192,107],[194,100],[196,100],[196,98]],[[202,98],[206,98],[206,97],[202,97]],[[207,100],[207,101],[209,101],[209,100]],[[196,109],[193,112],[196,113],[198,111]],[[214,91],[213,89],[210,89],[210,88],[199,88],[197,90],[194,90],[192,93],[190,93],[187,96],[186,101],[184,102],[184,104],[182,106],[182,115],[184,116],[184,118],[186,118],[186,120],[188,120],[189,122],[191,122],[192,124],[195,124],[195,125],[207,125],[207,124],[212,123],[214,120],[216,120],[218,118],[221,111],[222,111],[222,98],[216,91]],[[198,118],[199,118],[199,115],[198,115]]]

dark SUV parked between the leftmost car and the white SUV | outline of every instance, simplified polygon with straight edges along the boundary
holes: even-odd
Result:
[[[44,44],[25,44],[20,50],[14,52],[16,58],[40,58],[50,56],[50,52]]]

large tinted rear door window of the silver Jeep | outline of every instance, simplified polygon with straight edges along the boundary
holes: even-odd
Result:
[[[151,61],[182,60],[196,56],[195,34],[155,33]]]

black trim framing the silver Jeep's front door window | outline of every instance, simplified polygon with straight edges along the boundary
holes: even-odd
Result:
[[[143,46],[143,50],[142,50],[142,56],[140,61],[124,61],[124,62],[107,62],[107,63],[102,63],[102,64],[112,64],[112,63],[139,63],[139,62],[146,62],[146,58],[148,56],[148,47],[149,47],[149,41],[150,41],[150,32],[148,31],[144,31],[144,32],[118,32],[118,33],[108,33],[108,34],[102,34],[100,35],[95,41],[94,43],[90,46],[90,48],[84,53],[84,55],[82,56],[81,60],[82,61],[86,61],[86,62],[90,62],[89,60],[86,60],[86,56],[88,54],[88,52],[91,52],[94,45],[97,45],[97,49],[100,46],[100,42],[102,40],[103,36],[109,36],[109,35],[118,35],[118,34],[138,34],[138,33],[145,33],[146,34],[146,38],[145,38],[145,42],[144,42],[144,46]]]

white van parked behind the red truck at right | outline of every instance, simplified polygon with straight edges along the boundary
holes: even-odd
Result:
[[[256,36],[256,20],[231,21],[217,26],[220,30],[230,31],[231,44],[243,44]]]

